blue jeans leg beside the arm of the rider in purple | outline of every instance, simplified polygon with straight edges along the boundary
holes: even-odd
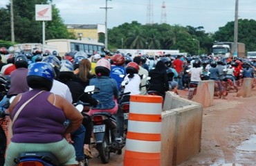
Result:
[[[84,160],[84,133],[85,128],[81,124],[80,127],[71,133],[71,138],[74,141],[75,156],[77,161]]]

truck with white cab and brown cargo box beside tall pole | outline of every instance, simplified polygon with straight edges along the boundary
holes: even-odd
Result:
[[[212,55],[214,57],[233,57],[234,42],[217,42],[212,46]],[[243,43],[237,43],[237,57],[246,57],[246,46]]]

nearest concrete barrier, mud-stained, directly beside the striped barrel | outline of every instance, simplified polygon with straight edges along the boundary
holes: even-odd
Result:
[[[179,165],[200,151],[203,107],[168,92],[163,109],[161,163]]]

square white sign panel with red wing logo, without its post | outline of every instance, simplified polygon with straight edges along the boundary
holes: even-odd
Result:
[[[52,6],[51,5],[35,5],[35,20],[36,21],[51,21]]]

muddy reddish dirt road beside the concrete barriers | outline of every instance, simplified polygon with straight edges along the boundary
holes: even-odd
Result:
[[[187,92],[180,94],[185,98]],[[180,166],[256,165],[256,90],[250,98],[235,94],[216,98],[214,106],[203,109],[201,152]],[[111,154],[107,165],[119,166],[122,160],[122,155]],[[100,158],[91,159],[90,165],[102,165]]]

